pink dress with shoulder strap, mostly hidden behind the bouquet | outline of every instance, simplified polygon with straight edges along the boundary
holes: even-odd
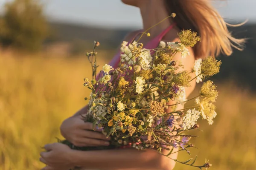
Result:
[[[175,26],[176,24],[172,24],[171,26],[169,26],[168,28],[166,28],[165,30],[163,30],[163,32],[161,32],[157,37],[154,37],[154,39],[152,39],[151,41],[149,41],[146,45],[144,45],[144,48],[147,49],[153,49],[153,48],[157,48],[159,45],[159,42],[163,39],[163,37]],[[132,39],[133,40],[133,39]],[[131,43],[130,40],[128,43]],[[113,57],[113,59],[111,60],[111,62],[109,62],[109,65],[111,65],[113,68],[117,68],[118,64],[120,62],[120,51]]]

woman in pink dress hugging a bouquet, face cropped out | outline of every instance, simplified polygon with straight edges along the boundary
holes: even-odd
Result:
[[[164,18],[176,13],[177,16],[149,30],[150,37],[143,37],[140,42],[145,48],[156,48],[159,42],[178,41],[177,33],[183,29],[198,32],[201,42],[190,48],[190,55],[185,59],[176,54],[174,60],[181,62],[185,70],[191,70],[195,59],[206,57],[209,54],[217,56],[220,53],[232,54],[232,47],[241,50],[242,39],[233,38],[227,26],[217,11],[211,6],[210,0],[122,0],[123,3],[140,8],[143,18],[143,28],[147,29],[159,23]],[[131,41],[141,31],[135,31],[125,38]],[[151,38],[154,37],[154,38]],[[114,67],[119,62],[119,55],[113,58]],[[195,88],[186,88],[186,96]],[[172,103],[171,103],[172,104]],[[182,109],[182,105],[179,106]],[[82,114],[87,113],[87,106],[74,116],[66,119],[61,125],[61,134],[76,146],[102,146],[108,145],[109,139],[100,133],[100,129],[91,131],[93,125],[84,123]],[[64,144],[47,144],[40,160],[47,164],[44,170],[68,170],[70,167],[81,166],[88,169],[145,169],[145,170],[172,170],[175,166],[177,154],[172,159],[160,155],[154,150],[138,151],[135,149],[77,151],[71,150]],[[165,152],[165,151],[164,151]]]

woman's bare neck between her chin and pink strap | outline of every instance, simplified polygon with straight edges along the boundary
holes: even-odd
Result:
[[[146,30],[151,26],[159,23],[161,20],[169,16],[165,8],[164,0],[142,0],[139,4],[140,13],[143,19],[143,29]],[[162,23],[154,26],[149,31],[151,36],[155,37],[160,34],[164,29],[172,24],[170,19],[164,20]]]

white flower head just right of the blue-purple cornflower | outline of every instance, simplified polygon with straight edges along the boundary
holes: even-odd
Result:
[[[200,111],[196,111],[195,108],[193,110],[189,109],[186,115],[183,117],[183,129],[187,130],[193,127],[196,124],[199,117]]]

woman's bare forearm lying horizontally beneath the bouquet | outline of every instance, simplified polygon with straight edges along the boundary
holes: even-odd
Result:
[[[93,169],[128,169],[171,170],[175,162],[154,150],[99,150],[74,151],[72,156],[77,164],[84,168]]]

